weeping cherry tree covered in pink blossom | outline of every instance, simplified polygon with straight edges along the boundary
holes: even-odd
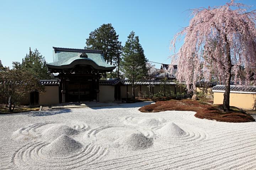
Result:
[[[186,82],[188,91],[196,89],[199,77],[210,81],[210,74],[214,74],[222,79],[224,111],[230,109],[231,77],[235,83],[250,84],[253,75],[256,81],[256,11],[249,10],[234,0],[223,6],[194,9],[189,26],[171,42],[172,50],[177,39],[185,37],[172,62],[178,63],[177,79]]]

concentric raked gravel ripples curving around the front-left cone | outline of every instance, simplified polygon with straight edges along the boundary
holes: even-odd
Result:
[[[107,151],[106,148],[101,146],[89,144],[75,154],[49,157],[44,153],[44,148],[48,144],[44,142],[27,144],[16,151],[11,161],[24,169],[33,168],[34,165],[42,169],[45,166],[50,169],[74,169],[93,163],[103,157]]]

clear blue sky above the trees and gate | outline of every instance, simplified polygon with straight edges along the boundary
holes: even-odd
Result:
[[[91,31],[112,23],[124,45],[134,31],[150,61],[170,63],[170,41],[188,25],[188,9],[224,5],[226,0],[0,0],[0,59],[21,62],[37,48],[47,62],[52,46],[84,48]],[[256,5],[256,0],[239,0]],[[253,7],[255,9],[255,6]],[[156,64],[159,68],[160,65]]]

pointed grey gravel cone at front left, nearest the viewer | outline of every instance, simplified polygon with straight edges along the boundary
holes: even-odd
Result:
[[[43,151],[49,156],[67,155],[78,152],[82,147],[82,144],[75,139],[66,135],[61,135],[47,145]]]

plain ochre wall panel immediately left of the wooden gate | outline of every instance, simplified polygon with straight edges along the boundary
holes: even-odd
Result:
[[[45,86],[45,91],[39,94],[39,105],[59,103],[59,86]]]

